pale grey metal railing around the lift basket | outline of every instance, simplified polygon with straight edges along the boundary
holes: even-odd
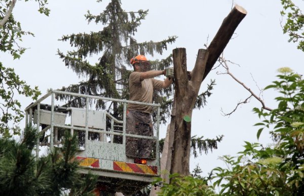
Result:
[[[86,99],[86,124],[85,127],[75,127],[75,126],[69,126],[69,125],[60,125],[60,124],[55,124],[54,122],[54,114],[55,114],[55,95],[56,94],[64,94],[64,95],[70,95],[70,96],[77,96],[77,97],[83,97]],[[134,102],[134,101],[127,101],[127,100],[119,100],[119,99],[112,99],[112,98],[107,98],[107,97],[101,97],[101,96],[93,96],[93,95],[86,95],[86,94],[79,94],[79,93],[73,93],[73,92],[65,92],[65,91],[59,91],[59,90],[50,90],[47,94],[42,96],[39,100],[36,102],[30,104],[26,109],[25,109],[25,121],[26,125],[32,124],[32,112],[33,108],[37,106],[37,119],[36,119],[36,124],[37,124],[37,132],[40,131],[40,105],[41,103],[46,100],[49,96],[51,96],[52,99],[52,104],[51,104],[51,124],[47,126],[45,129],[42,131],[46,131],[50,129],[50,149],[52,150],[54,148],[54,127],[60,127],[60,128],[66,128],[70,130],[79,130],[79,131],[85,131],[85,141],[87,142],[88,139],[88,134],[89,132],[98,132],[98,133],[104,133],[104,134],[110,134],[111,135],[111,142],[113,139],[113,135],[121,135],[123,136],[123,145],[126,145],[126,136],[128,137],[136,137],[136,138],[143,138],[143,139],[154,139],[156,140],[156,159],[157,159],[157,166],[159,169],[159,126],[160,126],[160,105],[159,104],[149,104],[149,103],[142,103],[142,102]],[[96,129],[91,129],[89,128],[88,125],[88,113],[89,113],[89,101],[90,99],[95,99],[95,100],[103,100],[103,101],[112,101],[112,102],[118,102],[122,103],[124,106],[123,109],[123,120],[120,121],[110,114],[106,114],[107,117],[111,119],[111,128],[110,131],[106,130],[96,130]],[[126,112],[127,112],[127,104],[132,103],[132,104],[139,104],[139,105],[146,105],[146,106],[152,106],[152,107],[157,107],[157,125],[156,125],[156,136],[143,136],[143,135],[134,135],[134,134],[128,134],[126,133]],[[123,131],[115,131],[114,127],[119,126],[119,125],[114,125],[114,123],[120,123],[123,124],[122,128]],[[37,139],[37,150],[36,150],[36,157],[39,156],[39,144],[40,141]]]

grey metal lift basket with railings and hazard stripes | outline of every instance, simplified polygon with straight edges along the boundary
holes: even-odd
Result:
[[[55,105],[57,94],[82,97],[86,100],[86,108],[64,108]],[[51,104],[42,104],[51,99]],[[118,120],[106,111],[91,110],[89,103],[92,100],[117,102],[123,105],[123,119]],[[142,136],[126,133],[127,104],[135,103],[157,108],[157,122],[154,136]],[[26,125],[36,124],[37,131],[48,132],[47,142],[37,140],[36,156],[39,156],[39,146],[47,145],[50,150],[60,148],[58,128],[85,133],[85,146],[80,148],[77,159],[80,160],[81,173],[92,173],[99,176],[99,184],[108,191],[131,194],[154,181],[160,176],[159,155],[159,119],[160,105],[133,102],[127,100],[110,99],[100,96],[50,90],[26,109]],[[68,114],[68,115],[67,115]],[[106,120],[110,120],[110,127],[106,127]],[[67,125],[69,121],[70,125]],[[42,127],[42,128],[41,128]],[[89,138],[89,133],[99,133],[98,140]],[[115,137],[122,137],[122,142],[116,143]],[[134,159],[126,156],[126,136],[141,139],[152,139],[155,142],[155,157],[147,160],[146,165],[134,163]]]

